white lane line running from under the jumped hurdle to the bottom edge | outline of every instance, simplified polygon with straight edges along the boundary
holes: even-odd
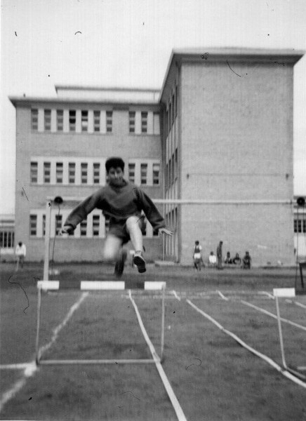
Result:
[[[173,389],[172,389],[171,384],[168,380],[168,377],[166,376],[166,373],[164,372],[164,368],[162,368],[162,366],[161,366],[161,363],[159,361],[159,356],[157,355],[157,352],[154,349],[154,345],[152,344],[151,340],[149,339],[149,335],[147,334],[147,330],[145,330],[145,326],[142,323],[140,312],[138,311],[138,307],[137,307],[135,301],[132,298],[131,290],[129,290],[129,295],[130,295],[130,300],[133,303],[135,312],[137,314],[137,319],[138,319],[140,329],[142,331],[142,335],[144,336],[145,341],[147,342],[149,350],[150,350],[150,352],[152,354],[152,357],[155,361],[157,371],[159,372],[159,375],[161,377],[161,381],[164,383],[164,387],[166,389],[166,392],[168,393],[169,399],[171,400],[171,403],[172,403],[173,408],[175,410],[175,413],[178,417],[178,420],[179,421],[187,421],[187,419],[185,417],[185,414],[182,412],[182,408],[180,406],[178,398],[175,396],[175,393],[173,392]]]

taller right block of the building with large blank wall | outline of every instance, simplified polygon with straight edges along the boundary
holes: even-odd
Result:
[[[297,51],[173,51],[161,89],[166,255],[190,263],[249,251],[254,265],[291,265],[293,65]],[[192,204],[192,202],[194,202]]]

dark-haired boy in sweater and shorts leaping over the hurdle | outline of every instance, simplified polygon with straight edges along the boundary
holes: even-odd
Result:
[[[95,208],[101,209],[103,215],[109,216],[109,232],[105,240],[103,259],[116,262],[115,274],[120,277],[124,272],[126,250],[122,248],[131,239],[135,249],[133,263],[138,272],[146,271],[145,259],[142,256],[142,210],[154,230],[172,235],[166,229],[164,218],[160,215],[149,196],[133,183],[124,179],[124,161],[112,157],[105,162],[107,185],[81,202],[69,214],[61,234],[74,231],[76,225],[86,218]]]

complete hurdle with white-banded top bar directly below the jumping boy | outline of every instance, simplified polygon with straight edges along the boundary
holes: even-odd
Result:
[[[41,324],[41,293],[56,290],[71,290],[65,288],[65,282],[61,281],[38,281],[37,282],[37,309],[36,309],[36,340],[35,340],[35,361],[36,366],[39,365],[81,365],[81,364],[128,364],[128,363],[162,363],[164,359],[164,333],[165,333],[165,291],[166,282],[164,281],[78,281],[76,287],[82,291],[110,291],[110,290],[161,290],[161,351],[160,356],[157,352],[152,353],[152,359],[65,359],[51,360],[41,359],[39,350],[39,330]],[[73,288],[75,290],[75,288]],[[135,306],[134,306],[135,307]],[[142,320],[138,309],[135,308],[138,321],[142,324]]]

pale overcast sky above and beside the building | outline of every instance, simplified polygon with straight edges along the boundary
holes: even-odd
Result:
[[[161,88],[173,48],[306,50],[306,0],[2,0],[1,201],[15,212],[15,108],[55,84]],[[306,58],[295,65],[294,192],[306,194]]]

